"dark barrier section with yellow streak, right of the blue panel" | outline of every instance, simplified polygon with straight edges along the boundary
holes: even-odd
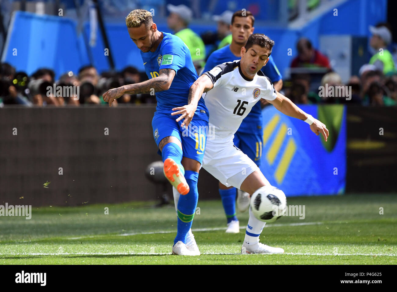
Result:
[[[347,107],[347,193],[397,191],[397,107]]]

